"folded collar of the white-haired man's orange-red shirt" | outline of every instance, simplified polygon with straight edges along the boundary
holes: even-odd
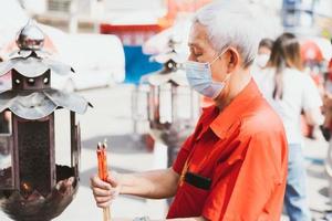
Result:
[[[227,131],[235,123],[240,123],[248,107],[257,98],[262,97],[255,81],[251,78],[249,84],[221,110],[210,124],[211,130],[220,138],[225,138]]]

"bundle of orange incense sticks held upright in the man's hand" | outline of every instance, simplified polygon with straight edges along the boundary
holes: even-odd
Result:
[[[103,181],[107,181],[108,169],[107,169],[107,145],[104,141],[103,144],[98,143],[97,145],[97,159],[98,159],[98,177]],[[110,207],[103,209],[104,221],[111,221],[111,210]]]

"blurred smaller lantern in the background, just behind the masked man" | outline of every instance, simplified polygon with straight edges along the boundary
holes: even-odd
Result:
[[[144,75],[134,93],[134,119],[136,131],[142,133],[142,123],[149,123],[149,134],[155,143],[168,147],[172,165],[180,144],[193,131],[199,116],[199,95],[189,87],[181,59],[169,41],[169,51],[157,55],[164,69]],[[146,127],[145,127],[146,128]]]

